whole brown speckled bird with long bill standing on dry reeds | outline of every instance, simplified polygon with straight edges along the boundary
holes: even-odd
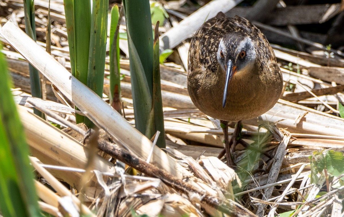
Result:
[[[264,114],[276,104],[282,87],[275,53],[266,37],[248,20],[239,16],[227,18],[219,12],[193,36],[187,90],[201,112],[225,124],[228,165],[234,165],[228,122]],[[239,125],[240,122],[236,131]]]

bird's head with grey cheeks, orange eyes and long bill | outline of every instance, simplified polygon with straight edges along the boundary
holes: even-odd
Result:
[[[222,106],[225,107],[228,85],[236,74],[247,76],[254,73],[257,54],[249,35],[242,32],[228,33],[220,40],[217,50],[217,61],[226,73]]]

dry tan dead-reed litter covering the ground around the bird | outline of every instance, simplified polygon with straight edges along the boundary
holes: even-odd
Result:
[[[261,4],[259,10],[271,10],[259,11],[263,14],[259,18],[252,13],[256,17],[251,19],[261,22],[254,21],[270,43],[279,44],[272,47],[283,74],[284,91],[270,111],[242,122],[239,144],[233,152],[235,170],[227,167],[225,157],[217,158],[224,147],[219,121],[198,111],[188,95],[190,36],[219,11],[247,16],[248,11],[258,10],[252,2],[180,0],[151,5],[154,19],[160,21],[161,50],[172,49],[163,52],[169,54],[173,51],[161,57],[160,65],[167,145],[161,151],[151,148],[151,138],[132,138],[141,134],[128,124],[135,125],[124,19],[119,26],[119,47],[125,117],[121,121],[130,129],[125,132],[118,127],[123,122],[107,118],[103,113],[110,110],[94,102],[85,104],[96,111],[87,106],[83,112],[76,111],[78,99],[70,99],[71,93],[66,92],[63,82],[44,81],[47,100],[31,97],[26,59],[37,64],[46,61],[48,65],[52,60],[44,55],[37,57],[35,52],[17,53],[30,48],[14,46],[6,38],[12,30],[4,24],[10,21],[24,30],[23,2],[1,1],[2,52],[7,57],[13,95],[20,105],[19,114],[34,157],[31,161],[43,177],[36,182],[42,210],[54,216],[79,212],[93,216],[343,216],[343,3],[265,1],[278,2],[271,9],[263,1],[256,1]],[[45,49],[49,1],[34,3],[37,44]],[[51,56],[61,69],[70,71],[63,1],[51,0],[50,11]],[[205,17],[207,14],[209,17]],[[25,37],[12,37],[25,41]],[[107,53],[103,94],[107,103],[108,64]],[[54,126],[32,115],[32,107],[45,113]],[[100,129],[93,142],[87,136],[92,131],[75,125],[76,113],[93,118]],[[119,130],[114,132],[111,126],[116,124]],[[234,124],[228,130],[230,135],[233,132]],[[140,143],[149,150],[141,150]],[[100,151],[90,151],[95,144]],[[150,150],[152,157],[146,162]],[[60,181],[70,188],[59,185]],[[59,195],[41,184],[44,182]],[[84,204],[81,209],[80,203]]]

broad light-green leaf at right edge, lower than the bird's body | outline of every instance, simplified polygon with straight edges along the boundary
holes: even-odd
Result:
[[[340,176],[344,173],[344,156],[342,152],[328,150],[325,155],[327,172],[333,176]]]

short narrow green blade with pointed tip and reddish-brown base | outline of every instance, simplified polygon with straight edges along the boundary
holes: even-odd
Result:
[[[118,36],[118,21],[119,21],[118,6],[115,5],[111,9],[111,24],[110,24],[110,104],[121,113],[121,88],[120,88],[120,67],[119,67],[119,36]]]

